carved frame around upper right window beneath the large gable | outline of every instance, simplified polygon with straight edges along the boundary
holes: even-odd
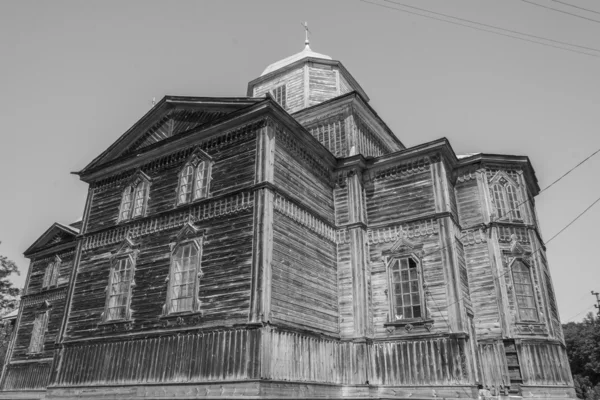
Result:
[[[191,204],[198,200],[207,199],[210,197],[210,183],[212,180],[212,159],[211,157],[203,152],[202,150],[196,150],[192,156],[183,164],[183,167],[180,169],[179,174],[177,176],[177,188],[175,189],[177,198],[176,198],[176,206],[181,206],[184,204]],[[188,174],[186,171],[188,168],[192,168],[192,173]],[[198,194],[198,175],[199,172],[203,170],[203,179],[204,185],[200,187],[200,193]],[[182,187],[183,187],[183,178],[191,176],[191,187],[189,192],[187,192],[186,199],[182,200]],[[186,186],[190,186],[190,183],[186,183]],[[189,199],[188,199],[189,197]]]

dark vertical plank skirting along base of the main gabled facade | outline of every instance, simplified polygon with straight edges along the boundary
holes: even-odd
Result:
[[[258,379],[259,351],[259,330],[245,329],[68,346],[51,386]]]

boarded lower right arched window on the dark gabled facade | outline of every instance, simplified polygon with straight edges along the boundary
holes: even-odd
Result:
[[[194,243],[179,246],[172,256],[168,312],[194,311],[200,256]]]

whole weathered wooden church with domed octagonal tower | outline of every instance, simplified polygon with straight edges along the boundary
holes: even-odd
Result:
[[[0,398],[574,397],[525,156],[407,148],[305,49],[166,96],[31,260]]]

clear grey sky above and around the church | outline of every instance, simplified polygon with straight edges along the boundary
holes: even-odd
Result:
[[[16,285],[25,281],[27,247],[53,222],[83,212],[87,185],[72,171],[133,125],[153,98],[245,96],[268,64],[302,50],[303,21],[311,48],[344,63],[407,146],[446,137],[458,154],[527,155],[542,188],[600,148],[600,22],[520,0],[396,0],[599,49],[585,50],[593,57],[369,1],[379,6],[0,2],[0,254],[22,271]],[[600,11],[594,0],[566,1]],[[599,174],[600,154],[536,198],[546,240],[600,197]],[[599,223],[597,205],[548,244],[563,322],[593,310],[590,291],[600,291]]]

